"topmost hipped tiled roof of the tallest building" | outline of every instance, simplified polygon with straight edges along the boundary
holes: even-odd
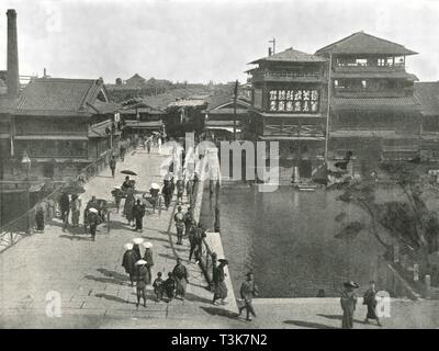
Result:
[[[382,39],[364,32],[353,33],[338,42],[329,44],[316,52],[320,54],[384,54],[384,55],[415,55],[417,53],[403,45]]]

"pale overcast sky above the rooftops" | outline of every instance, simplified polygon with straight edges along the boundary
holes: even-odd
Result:
[[[0,69],[5,69],[5,11],[18,12],[20,73],[98,78],[138,72],[172,81],[245,80],[247,63],[293,47],[306,53],[353,32],[405,45],[419,55],[407,70],[439,80],[436,0],[1,0]]]

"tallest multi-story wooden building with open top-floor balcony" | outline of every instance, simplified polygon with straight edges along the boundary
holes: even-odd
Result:
[[[351,151],[359,171],[419,155],[417,78],[406,57],[417,53],[363,32],[316,52],[330,61],[328,163]]]

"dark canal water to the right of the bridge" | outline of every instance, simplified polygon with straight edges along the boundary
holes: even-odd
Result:
[[[358,282],[361,293],[375,279],[383,248],[367,230],[350,241],[335,237],[346,223],[368,223],[360,208],[337,201],[337,195],[323,189],[284,186],[259,193],[245,183],[223,185],[221,235],[235,294],[248,271],[255,273],[259,297],[339,296],[346,280]],[[212,227],[209,191],[203,202],[202,218]],[[340,213],[344,219],[336,220]]]

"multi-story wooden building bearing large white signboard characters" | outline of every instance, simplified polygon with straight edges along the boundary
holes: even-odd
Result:
[[[289,48],[250,63],[249,129],[255,140],[279,141],[281,181],[309,179],[325,156],[327,59]]]

